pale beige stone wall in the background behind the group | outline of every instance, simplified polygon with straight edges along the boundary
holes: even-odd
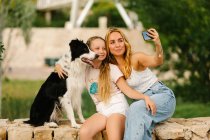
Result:
[[[140,31],[122,30],[133,51],[152,54],[151,45],[143,40]],[[2,34],[6,48],[2,62],[4,75],[10,79],[46,79],[53,68],[45,60],[60,58],[69,50],[70,40],[78,38],[86,42],[91,36],[104,37],[106,32],[107,29],[100,28],[32,28],[31,41],[26,44],[20,29],[6,28]]]

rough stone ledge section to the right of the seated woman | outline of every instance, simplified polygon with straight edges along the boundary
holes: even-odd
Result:
[[[210,140],[210,117],[171,118],[155,127],[157,139]]]

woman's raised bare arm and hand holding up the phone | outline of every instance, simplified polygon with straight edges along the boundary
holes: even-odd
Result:
[[[148,35],[152,37],[152,41],[155,44],[155,55],[146,55],[144,53],[136,53],[134,54],[134,59],[137,59],[139,64],[144,67],[156,67],[163,64],[163,49],[161,45],[161,41],[158,35],[158,32],[151,28],[148,31]]]

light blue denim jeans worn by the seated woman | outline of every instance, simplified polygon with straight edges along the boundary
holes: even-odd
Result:
[[[144,94],[155,102],[157,112],[152,116],[144,100],[132,103],[126,113],[124,140],[151,140],[155,124],[170,118],[175,111],[174,93],[162,82],[156,82]]]

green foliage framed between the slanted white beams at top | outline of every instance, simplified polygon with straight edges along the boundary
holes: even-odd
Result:
[[[85,20],[83,26],[98,27],[98,18],[101,16],[107,17],[108,27],[126,27],[114,3],[105,0],[94,4],[92,11]]]

